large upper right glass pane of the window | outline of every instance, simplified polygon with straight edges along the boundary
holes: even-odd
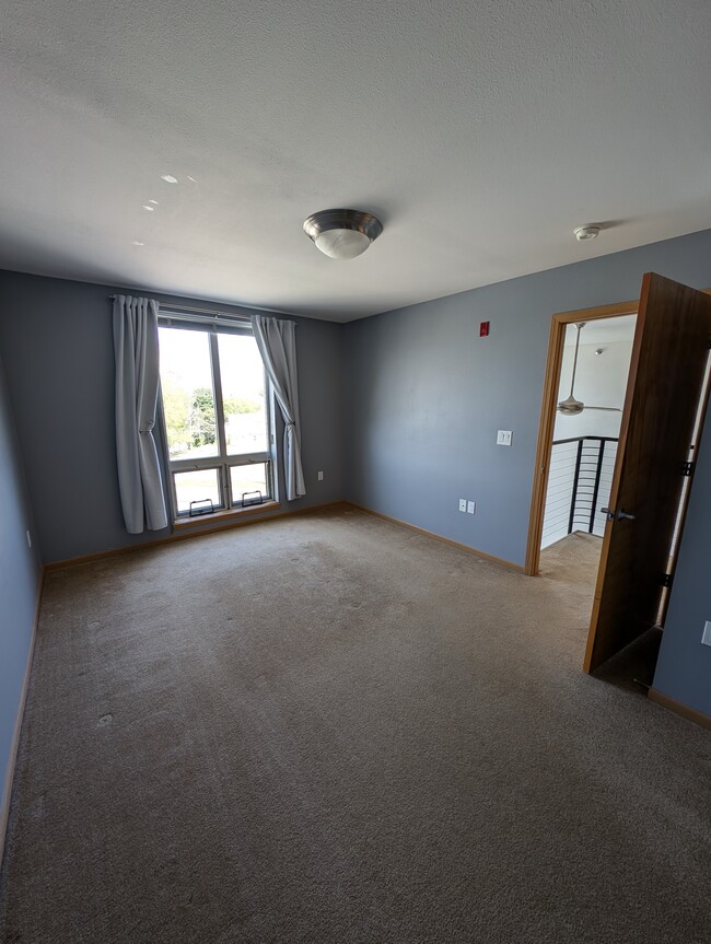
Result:
[[[267,452],[265,377],[257,342],[250,335],[218,335],[218,343],[228,455]]]

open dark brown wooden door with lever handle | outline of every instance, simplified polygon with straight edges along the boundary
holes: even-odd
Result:
[[[711,296],[644,276],[585,672],[657,621],[710,337]]]

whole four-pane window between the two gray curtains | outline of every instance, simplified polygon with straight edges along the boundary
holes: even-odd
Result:
[[[271,498],[267,384],[250,329],[164,316],[159,343],[174,516]]]

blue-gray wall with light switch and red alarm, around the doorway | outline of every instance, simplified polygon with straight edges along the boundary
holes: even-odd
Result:
[[[347,497],[523,564],[550,316],[639,298],[650,270],[711,287],[711,231],[347,325]],[[491,334],[480,339],[482,321]],[[511,448],[494,444],[497,429],[513,430]],[[711,713],[711,650],[700,645],[702,613],[711,619],[708,440],[655,685]]]

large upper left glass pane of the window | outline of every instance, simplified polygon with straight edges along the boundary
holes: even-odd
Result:
[[[215,456],[210,339],[202,331],[159,328],[161,391],[172,459]]]

